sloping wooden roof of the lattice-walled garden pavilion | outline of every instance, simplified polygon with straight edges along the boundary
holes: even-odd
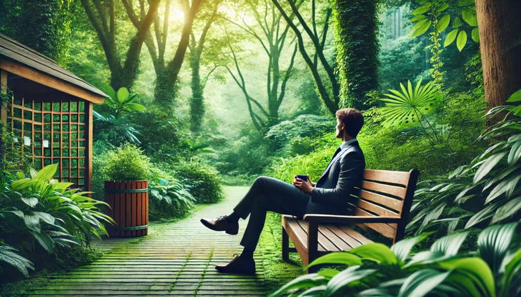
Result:
[[[4,34],[0,34],[0,68],[94,103],[108,97],[52,59]]]

